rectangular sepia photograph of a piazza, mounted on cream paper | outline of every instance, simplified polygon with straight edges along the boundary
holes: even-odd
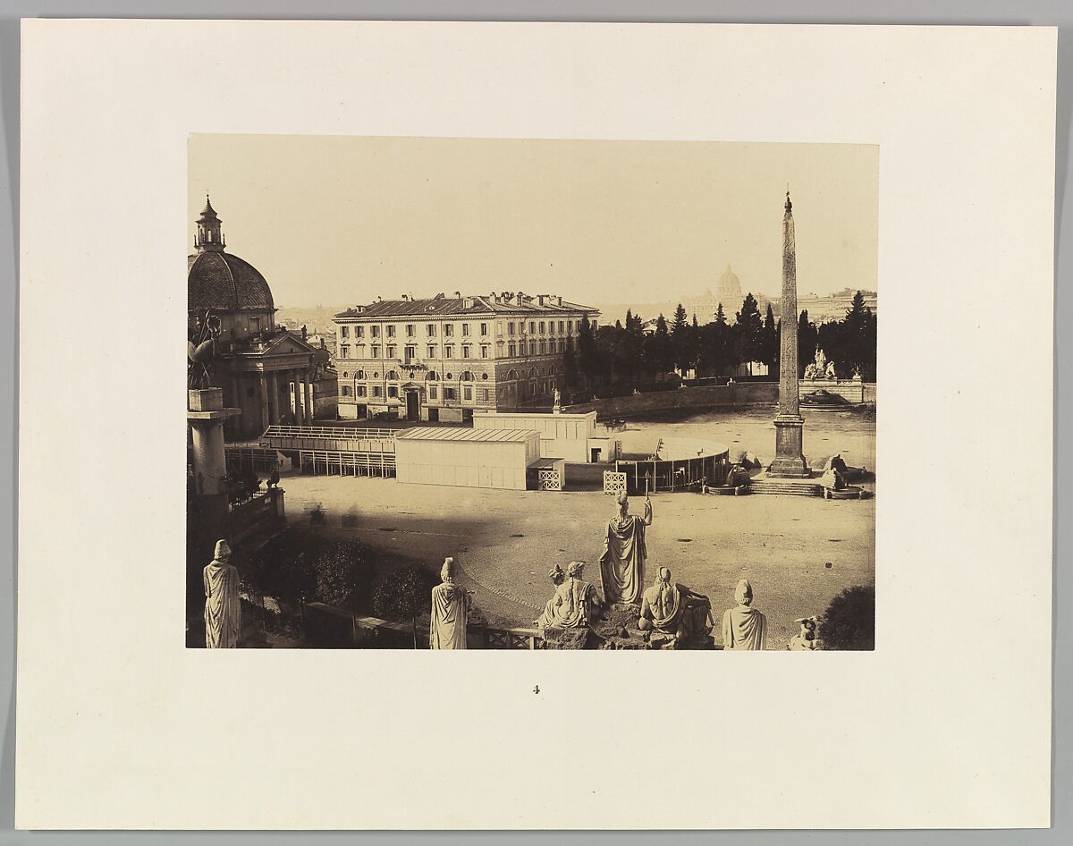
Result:
[[[876,648],[878,146],[191,135],[188,188],[188,647]]]

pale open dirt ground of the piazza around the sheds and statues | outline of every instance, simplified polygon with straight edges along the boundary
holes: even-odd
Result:
[[[874,469],[876,424],[848,412],[805,412],[810,463],[840,451],[848,464]],[[734,457],[750,450],[770,460],[769,411],[706,412],[679,420],[631,422],[623,451],[655,449],[661,436],[711,438]],[[765,449],[767,447],[767,449]],[[487,491],[401,484],[394,479],[290,476],[289,521],[300,524],[318,504],[333,533],[359,537],[374,549],[439,569],[454,555],[464,583],[494,625],[527,627],[553,589],[556,563],[589,563],[599,584],[601,542],[614,507],[600,492]],[[642,500],[631,500],[640,513]],[[754,606],[767,615],[768,647],[783,648],[797,631],[794,618],[821,613],[841,589],[874,584],[876,500],[827,501],[819,497],[717,497],[661,493],[652,496],[647,534],[650,584],[659,566],[711,599],[718,624],[734,604],[734,585],[748,578]]]

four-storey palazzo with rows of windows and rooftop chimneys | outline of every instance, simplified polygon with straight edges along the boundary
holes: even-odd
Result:
[[[491,293],[381,300],[335,316],[339,415],[464,421],[539,403],[599,311],[561,296]]]

